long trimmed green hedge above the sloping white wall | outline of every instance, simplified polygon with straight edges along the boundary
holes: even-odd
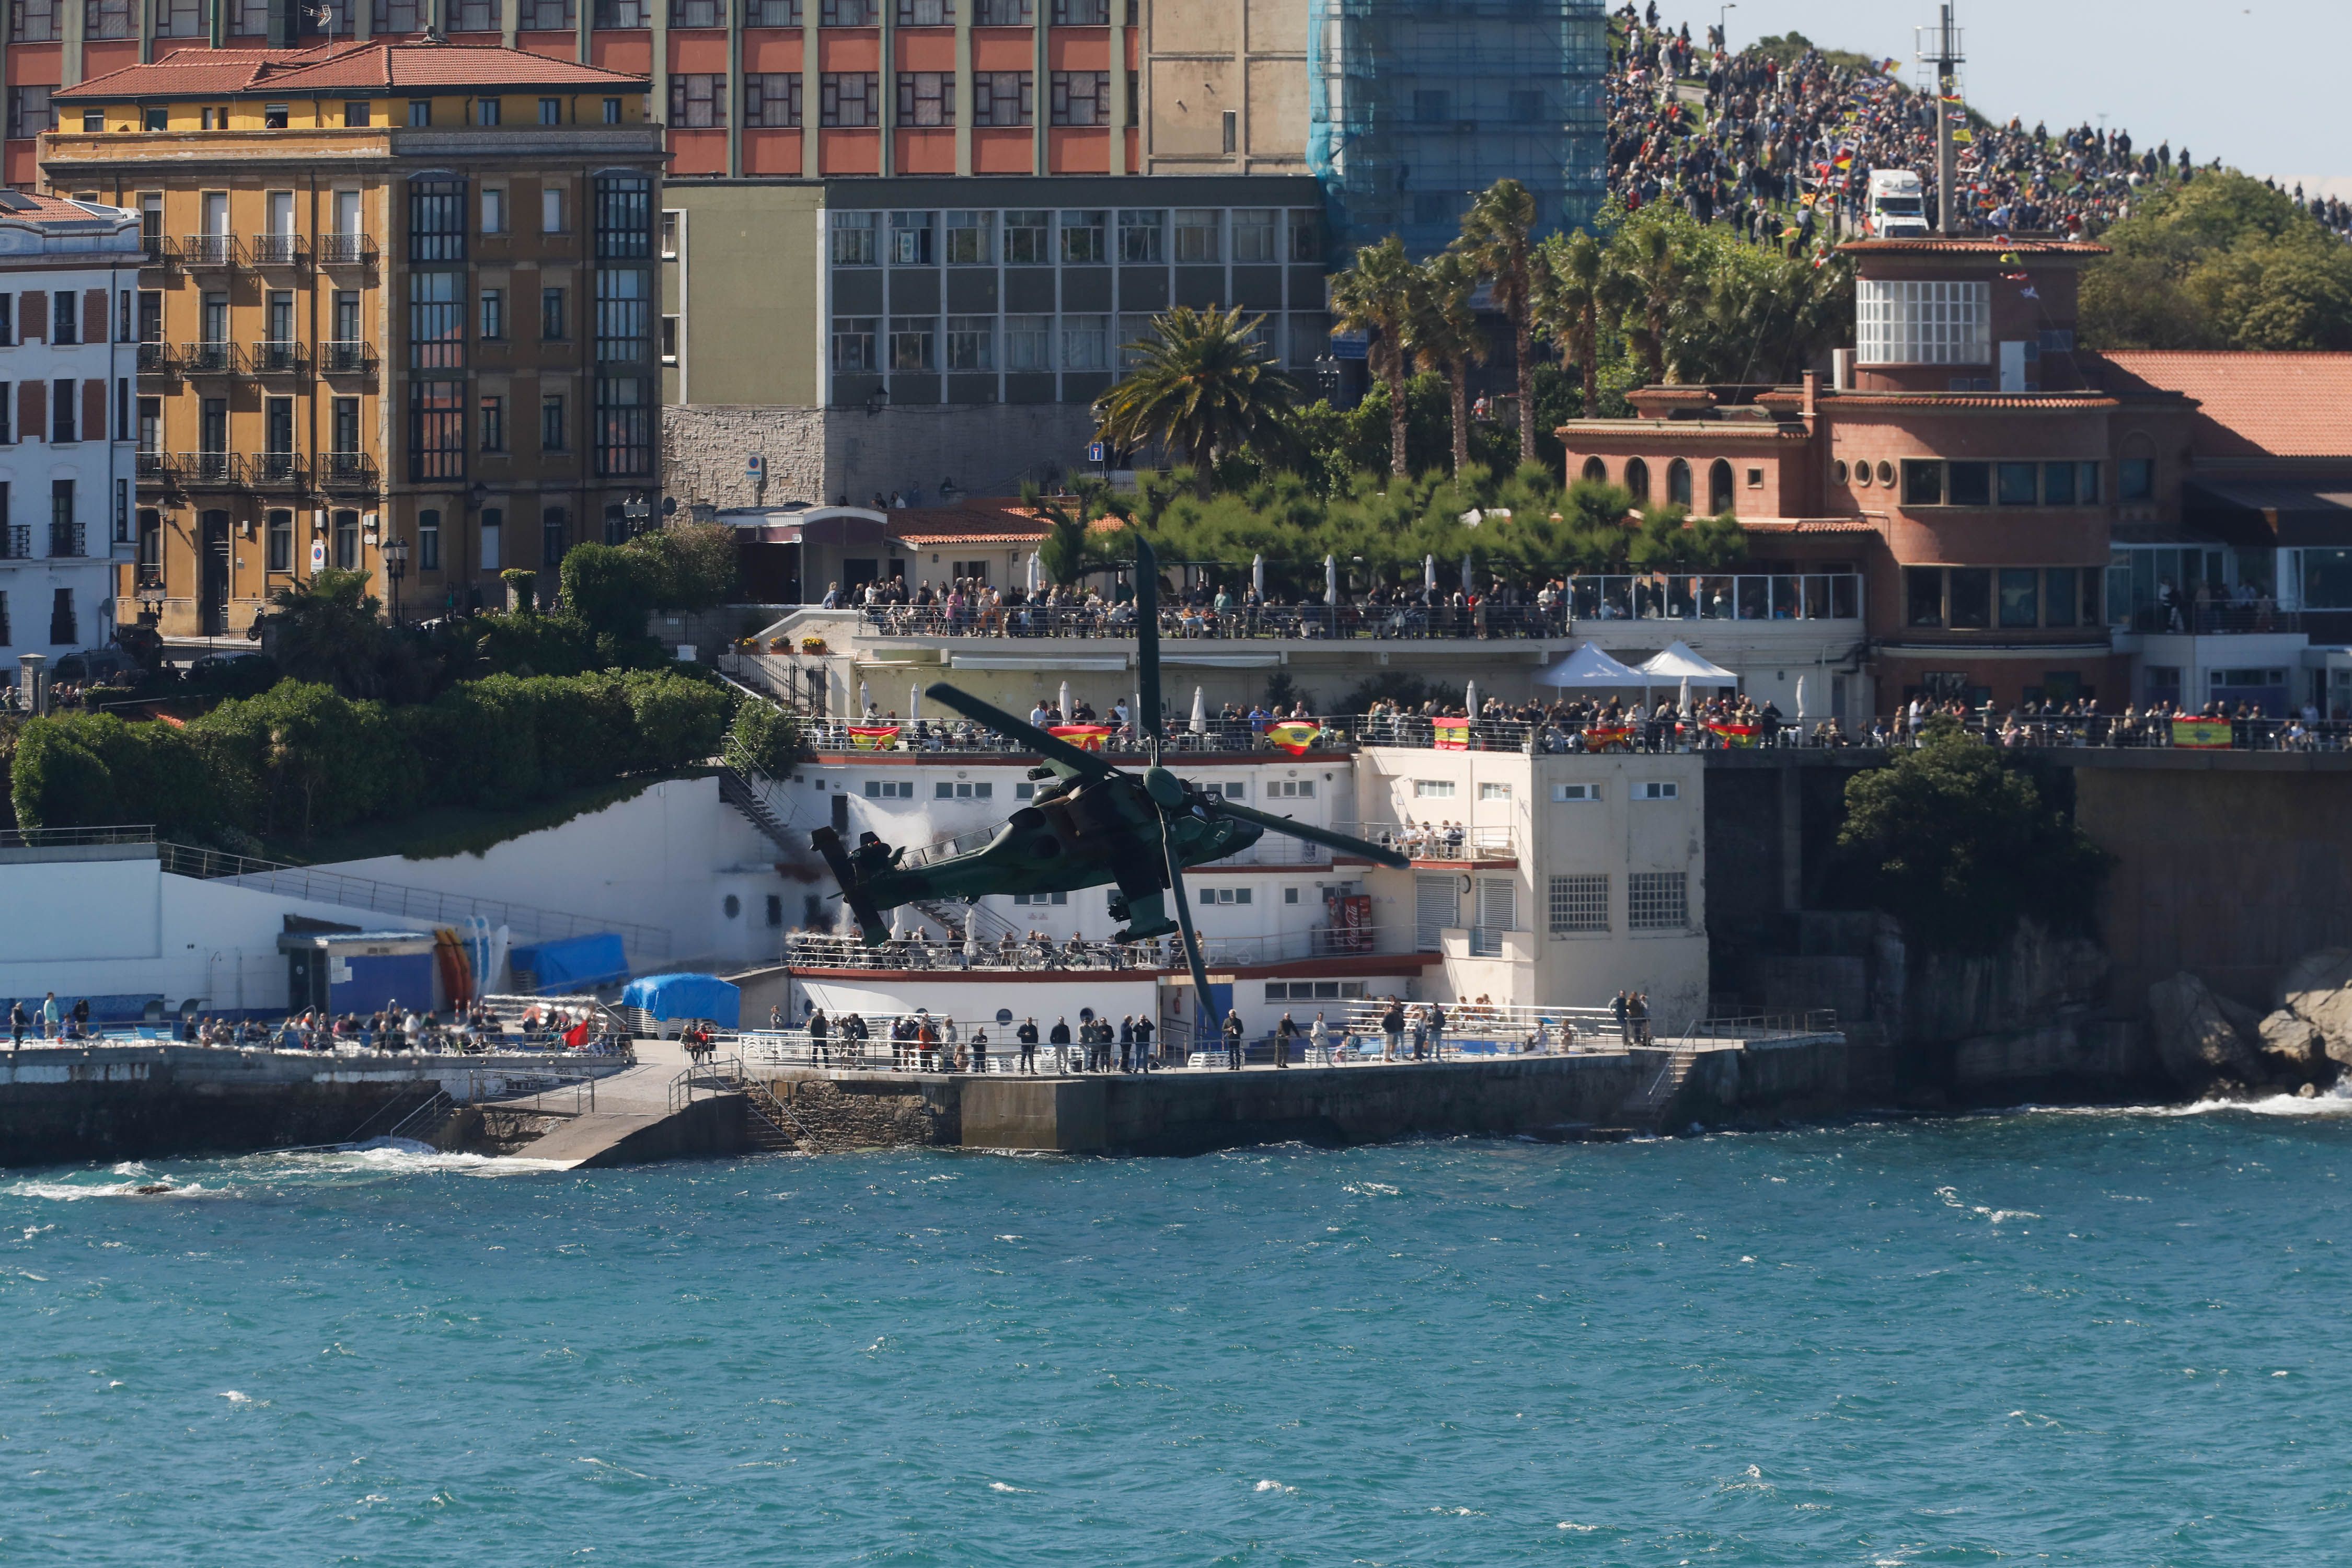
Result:
[[[280,682],[186,726],[33,719],[16,738],[9,795],[24,827],[155,823],[186,839],[306,839],[691,766],[720,750],[731,715],[724,686],[673,670],[494,675],[414,708]]]

